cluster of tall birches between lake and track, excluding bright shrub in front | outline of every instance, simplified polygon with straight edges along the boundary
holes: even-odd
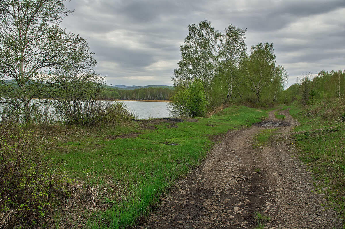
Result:
[[[283,66],[276,66],[273,43],[253,45],[248,54],[246,29],[233,24],[221,33],[210,22],[201,21],[189,25],[188,32],[172,78],[176,94],[188,92],[191,83],[200,80],[209,108],[236,100],[264,106],[277,101],[288,75]],[[172,108],[183,111],[182,98],[173,96]]]

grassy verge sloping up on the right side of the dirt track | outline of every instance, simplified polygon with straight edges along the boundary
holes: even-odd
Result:
[[[329,204],[345,221],[345,123],[332,107],[325,103],[313,111],[293,107],[290,114],[300,123],[294,138],[303,150],[300,159],[315,173],[315,191],[327,194]]]

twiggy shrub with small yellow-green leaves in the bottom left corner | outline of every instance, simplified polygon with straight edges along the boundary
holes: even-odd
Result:
[[[49,154],[12,119],[0,123],[1,228],[42,224],[54,197],[65,190],[69,180]]]

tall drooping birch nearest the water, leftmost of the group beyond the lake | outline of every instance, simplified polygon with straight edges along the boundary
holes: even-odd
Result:
[[[179,67],[174,70],[175,77],[172,78],[175,95],[172,96],[170,111],[178,115],[200,116],[204,115],[203,111],[211,100],[210,85],[217,74],[219,63],[218,44],[221,41],[222,34],[215,30],[208,21],[201,21],[198,25],[189,25],[188,31],[189,34],[185,39],[185,43],[180,46],[181,60],[178,62]],[[196,92],[197,90],[203,91]],[[200,97],[200,93],[205,95],[206,101],[193,99],[192,103],[186,105],[185,99],[187,97],[191,95]],[[203,106],[204,108],[201,108]],[[190,107],[197,107],[197,110],[201,112],[194,112],[194,108]],[[189,112],[186,112],[187,110]]]

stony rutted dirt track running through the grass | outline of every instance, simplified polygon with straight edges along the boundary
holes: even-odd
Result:
[[[284,121],[272,111],[264,122],[225,134],[140,228],[255,228],[255,212],[270,217],[265,228],[341,228],[296,158],[289,132],[297,122],[281,113]],[[254,149],[255,134],[267,128],[278,128],[276,135]]]

